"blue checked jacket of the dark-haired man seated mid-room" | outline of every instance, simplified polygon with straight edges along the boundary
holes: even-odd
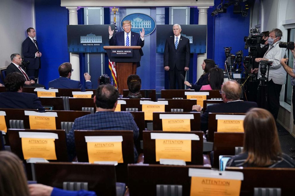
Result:
[[[68,154],[76,156],[74,130],[133,130],[134,142],[139,136],[139,128],[129,112],[99,111],[75,119],[74,125],[67,135]],[[138,154],[134,146],[134,160]]]

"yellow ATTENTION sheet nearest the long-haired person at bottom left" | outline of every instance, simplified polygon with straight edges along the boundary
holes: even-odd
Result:
[[[23,158],[43,158],[57,160],[55,154],[55,139],[48,138],[21,138]]]

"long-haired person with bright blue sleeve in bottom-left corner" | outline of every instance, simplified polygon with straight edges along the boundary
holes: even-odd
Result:
[[[12,152],[0,151],[0,165],[0,195],[3,196],[96,195],[93,191],[67,191],[55,187],[45,186],[43,184],[28,185],[22,162],[18,156]]]

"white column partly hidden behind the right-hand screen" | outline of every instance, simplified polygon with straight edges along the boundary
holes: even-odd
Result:
[[[208,8],[209,8],[209,6],[198,6],[198,10],[199,10],[198,25],[207,25]],[[208,33],[208,27],[207,27],[207,33]],[[207,38],[206,38],[206,42],[207,42]],[[206,51],[207,51],[207,46],[206,46]],[[203,69],[202,69],[201,65],[202,65],[204,59],[206,59],[206,58],[207,58],[207,53],[198,54],[198,56],[197,56],[197,80],[203,74]]]

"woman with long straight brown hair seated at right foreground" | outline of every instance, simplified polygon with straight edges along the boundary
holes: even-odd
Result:
[[[232,157],[226,166],[294,168],[294,161],[282,153],[277,126],[272,114],[253,108],[244,119],[243,152]]]

